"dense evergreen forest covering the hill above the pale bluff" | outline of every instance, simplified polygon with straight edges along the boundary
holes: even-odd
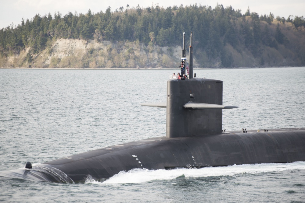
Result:
[[[27,50],[19,65],[31,64],[45,50],[51,56],[57,39],[95,40],[99,43],[110,41],[113,44],[136,42],[146,47],[174,47],[181,46],[183,32],[188,34],[193,31],[195,57],[203,67],[245,66],[247,63],[237,62],[243,60],[243,53],[257,61],[251,66],[272,64],[269,60],[278,58],[272,57],[272,54],[290,58],[293,63],[288,65],[305,65],[304,26],[303,16],[289,16],[288,19],[274,17],[271,13],[259,16],[250,9],[242,14],[240,10],[234,10],[231,6],[224,8],[223,5],[217,5],[214,9],[196,4],[168,8],[158,5],[130,8],[127,5],[113,12],[108,7],[105,12],[95,14],[90,9],[86,14],[36,14],[32,19],[22,19],[18,26],[11,25],[0,30],[0,58],[2,64],[6,64],[9,56],[18,56],[21,51]],[[188,36],[186,40],[186,44],[189,44]],[[94,54],[94,51],[89,50],[87,55]],[[119,54],[120,50],[116,52]],[[133,50],[129,48],[125,52],[128,60]],[[265,56],[267,52],[269,58]],[[96,52],[95,57],[99,53]],[[89,59],[87,57],[86,60]],[[83,66],[89,67],[89,62],[83,63]],[[95,67],[102,66],[95,63]],[[128,67],[128,64],[117,66]]]

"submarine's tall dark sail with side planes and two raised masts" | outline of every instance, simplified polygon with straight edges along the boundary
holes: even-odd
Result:
[[[182,56],[185,54],[183,33]],[[192,33],[189,46],[189,79],[167,81],[167,102],[141,103],[142,106],[166,108],[166,137],[190,137],[222,132],[222,81],[193,78]]]

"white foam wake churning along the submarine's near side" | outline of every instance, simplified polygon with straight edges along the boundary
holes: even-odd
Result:
[[[104,182],[98,182],[93,179],[86,180],[89,184],[125,184],[125,183],[143,183],[152,180],[172,180],[178,177],[213,177],[213,176],[236,176],[240,174],[257,174],[280,172],[285,170],[305,170],[305,162],[294,163],[262,163],[233,165],[225,167],[205,167],[201,169],[177,168],[173,170],[147,170],[132,169],[130,171],[121,171],[110,177]]]

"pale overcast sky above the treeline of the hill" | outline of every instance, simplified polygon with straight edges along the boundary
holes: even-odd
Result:
[[[248,6],[250,12],[257,12],[259,15],[273,13],[274,16],[280,16],[288,18],[292,16],[305,16],[305,1],[304,0],[0,0],[0,29],[9,26],[12,23],[18,25],[21,23],[22,18],[31,19],[35,14],[39,13],[41,16],[48,14],[49,12],[54,16],[54,12],[60,12],[63,16],[69,11],[74,13],[87,13],[89,9],[91,12],[105,12],[108,6],[111,11],[115,11],[119,7],[123,6],[124,9],[128,4],[131,8],[136,7],[138,4],[140,7],[148,7],[152,5],[159,5],[160,7],[167,8],[168,6],[183,6],[197,3],[197,5],[209,5],[212,8],[218,4],[224,5],[224,7],[232,6],[233,9],[241,9],[242,14],[246,12]]]

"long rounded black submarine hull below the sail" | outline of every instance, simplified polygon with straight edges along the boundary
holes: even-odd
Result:
[[[150,138],[114,145],[44,163],[73,181],[106,179],[133,168],[201,168],[233,164],[305,161],[305,128],[268,132]]]

